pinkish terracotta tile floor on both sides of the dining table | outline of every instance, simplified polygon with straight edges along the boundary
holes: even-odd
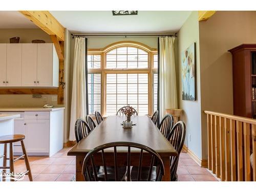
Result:
[[[75,157],[67,156],[70,148],[63,148],[52,157],[29,157],[33,181],[70,181],[75,175]],[[24,172],[24,160],[14,163],[15,172]],[[178,164],[179,181],[218,181],[206,168],[200,167],[186,153],[181,153]],[[23,181],[29,181],[25,176]]]

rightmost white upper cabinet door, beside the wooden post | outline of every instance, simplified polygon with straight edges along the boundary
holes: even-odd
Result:
[[[52,86],[53,44],[37,45],[37,86]]]

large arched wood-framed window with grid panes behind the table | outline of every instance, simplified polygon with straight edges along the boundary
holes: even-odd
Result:
[[[117,42],[88,52],[89,113],[115,115],[130,104],[139,115],[157,108],[157,50]]]

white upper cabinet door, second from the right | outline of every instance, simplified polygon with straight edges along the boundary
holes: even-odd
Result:
[[[22,44],[22,86],[36,86],[37,44]]]

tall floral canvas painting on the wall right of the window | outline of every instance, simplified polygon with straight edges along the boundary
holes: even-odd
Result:
[[[182,100],[195,101],[195,45],[189,46],[181,56]]]

